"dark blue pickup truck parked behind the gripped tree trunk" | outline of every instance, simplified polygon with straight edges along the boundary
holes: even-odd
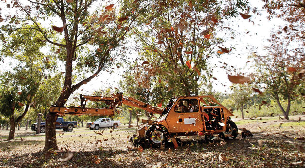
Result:
[[[46,123],[41,122],[40,123],[40,132],[44,133],[46,131],[45,129]],[[72,131],[73,128],[77,127],[77,121],[73,122],[65,122],[63,121],[62,117],[57,118],[56,120],[56,129],[63,129],[63,131]],[[32,131],[37,130],[37,122],[32,124]]]

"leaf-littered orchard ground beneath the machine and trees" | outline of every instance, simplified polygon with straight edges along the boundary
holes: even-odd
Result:
[[[197,143],[202,136],[181,137],[185,145],[177,149],[133,147],[128,140],[135,127],[99,131],[83,127],[73,132],[57,130],[60,150],[45,154],[41,152],[44,134],[21,128],[15,131],[15,140],[7,141],[8,131],[0,130],[0,167],[305,167],[305,116],[290,116],[290,121],[279,117],[233,120],[254,136],[242,138],[239,134],[235,140],[216,138],[212,143]]]

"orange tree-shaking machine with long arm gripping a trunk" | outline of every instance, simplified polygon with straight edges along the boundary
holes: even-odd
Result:
[[[80,95],[81,107],[51,107],[50,111],[72,115],[103,115],[113,116],[122,104],[146,110],[150,114],[160,114],[155,120],[142,120],[143,125],[137,130],[131,140],[135,145],[152,144],[160,146],[178,136],[200,135],[207,140],[214,134],[223,138],[236,138],[238,128],[230,120],[234,116],[226,107],[221,105],[213,96],[180,96],[171,99],[162,109],[146,104],[137,99],[123,96],[122,93],[112,97]],[[86,108],[86,102],[102,101],[109,107]]]

